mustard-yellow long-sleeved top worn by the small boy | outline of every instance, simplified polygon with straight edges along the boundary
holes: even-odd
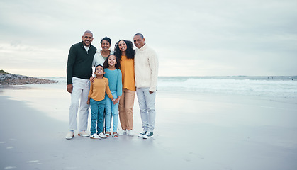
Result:
[[[102,79],[94,79],[94,82],[91,82],[91,87],[88,97],[95,101],[102,101],[105,98],[105,92],[111,100],[113,100],[113,95],[108,86],[108,79],[103,77]]]

